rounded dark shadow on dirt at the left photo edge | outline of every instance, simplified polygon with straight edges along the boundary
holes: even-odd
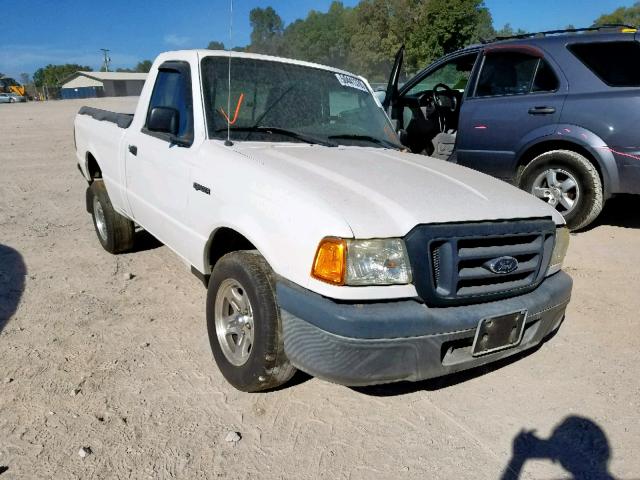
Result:
[[[0,244],[0,332],[18,309],[26,274],[27,267],[22,255]]]

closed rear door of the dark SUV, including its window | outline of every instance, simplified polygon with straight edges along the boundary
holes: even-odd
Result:
[[[458,163],[512,179],[527,138],[555,132],[567,84],[535,47],[488,47],[483,56],[460,111]]]

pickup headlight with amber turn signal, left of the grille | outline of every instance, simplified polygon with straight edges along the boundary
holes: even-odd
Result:
[[[404,285],[411,283],[411,266],[399,238],[322,239],[311,276],[334,285]]]

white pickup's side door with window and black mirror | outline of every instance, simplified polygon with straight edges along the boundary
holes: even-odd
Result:
[[[129,204],[136,222],[169,246],[188,238],[187,198],[194,140],[193,90],[187,62],[165,62],[144,126],[126,137]]]

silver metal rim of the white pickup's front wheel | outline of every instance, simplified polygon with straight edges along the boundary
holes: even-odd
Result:
[[[244,365],[253,346],[253,309],[240,282],[226,279],[220,284],[214,315],[222,353],[231,364]]]

